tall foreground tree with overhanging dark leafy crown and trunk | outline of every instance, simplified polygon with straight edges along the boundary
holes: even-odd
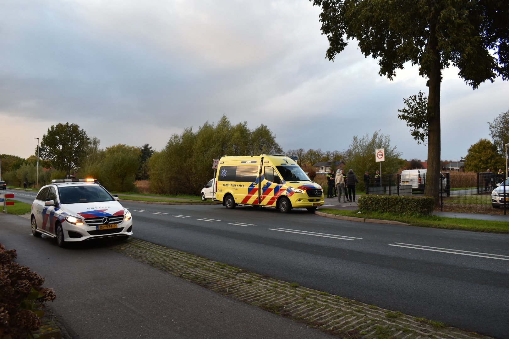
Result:
[[[392,79],[405,63],[428,79],[428,172],[426,196],[438,203],[440,172],[440,85],[442,70],[455,66],[476,89],[509,79],[509,2],[506,0],[309,0],[322,8],[326,57],[355,39],[365,57],[378,58],[380,75]]]

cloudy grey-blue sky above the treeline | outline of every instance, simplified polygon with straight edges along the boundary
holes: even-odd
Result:
[[[0,153],[29,157],[59,122],[102,148],[160,150],[226,114],[267,125],[284,150],[341,151],[380,130],[404,159],[427,159],[397,117],[426,80],[410,65],[380,77],[354,42],[325,59],[319,13],[307,0],[0,0]],[[509,82],[472,90],[457,73],[443,74],[443,160],[509,109]]]

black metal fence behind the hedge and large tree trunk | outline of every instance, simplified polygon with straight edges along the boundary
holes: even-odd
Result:
[[[427,174],[383,174],[373,177],[366,194],[422,196]],[[509,178],[492,172],[441,173],[439,176],[442,211],[506,214],[509,209]],[[507,191],[507,192],[506,192]]]

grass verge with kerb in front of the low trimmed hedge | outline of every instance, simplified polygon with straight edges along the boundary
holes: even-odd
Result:
[[[462,230],[489,233],[509,233],[509,223],[504,221],[473,220],[460,218],[438,217],[437,215],[403,215],[379,212],[361,212],[359,210],[338,210],[320,208],[320,212],[346,215],[347,217],[394,220],[419,227],[444,228],[448,230]]]

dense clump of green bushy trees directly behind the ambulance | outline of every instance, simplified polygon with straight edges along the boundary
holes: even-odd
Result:
[[[247,122],[232,125],[223,115],[216,124],[206,122],[196,132],[174,134],[149,160],[151,190],[160,194],[192,194],[214,175],[212,160],[221,156],[281,153],[275,135],[265,125],[254,130]]]

